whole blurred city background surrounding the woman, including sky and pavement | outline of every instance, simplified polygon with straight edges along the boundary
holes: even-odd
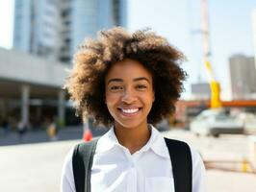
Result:
[[[176,113],[157,127],[199,151],[209,191],[255,190],[255,0],[0,0],[0,26],[0,191],[59,190],[67,151],[107,131],[82,123],[63,85],[76,47],[113,26],[151,28],[185,54]]]

